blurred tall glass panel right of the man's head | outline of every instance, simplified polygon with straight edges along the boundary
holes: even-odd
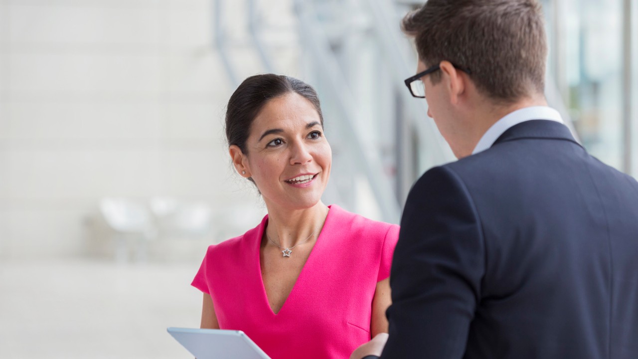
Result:
[[[622,0],[564,1],[564,100],[585,148],[621,169]]]

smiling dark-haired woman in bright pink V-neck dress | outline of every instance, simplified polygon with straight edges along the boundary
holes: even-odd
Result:
[[[332,151],[315,90],[249,77],[228,102],[226,137],[268,215],[209,247],[193,280],[204,292],[202,328],[242,330],[272,359],[348,358],[387,332],[399,227],[321,201]]]

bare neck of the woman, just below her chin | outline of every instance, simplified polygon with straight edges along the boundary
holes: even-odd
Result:
[[[319,201],[304,210],[281,210],[268,206],[267,236],[279,246],[292,248],[319,236],[329,208]],[[313,237],[313,238],[310,238]]]

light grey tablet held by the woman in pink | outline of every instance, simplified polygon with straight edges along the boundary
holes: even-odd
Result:
[[[197,359],[271,359],[241,330],[168,328]]]

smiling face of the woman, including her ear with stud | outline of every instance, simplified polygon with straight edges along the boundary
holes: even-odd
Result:
[[[252,177],[267,205],[315,206],[330,177],[332,150],[311,102],[288,93],[266,103],[253,121],[248,154],[231,146],[237,171]]]

